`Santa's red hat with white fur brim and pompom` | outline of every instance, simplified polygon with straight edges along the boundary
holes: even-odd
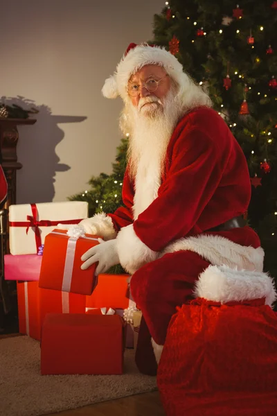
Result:
[[[129,44],[123,58],[116,67],[114,75],[105,80],[102,94],[106,98],[121,96],[127,98],[127,84],[133,73],[148,64],[157,64],[166,69],[168,75],[179,87],[186,87],[188,76],[180,62],[165,48],[149,44]]]

